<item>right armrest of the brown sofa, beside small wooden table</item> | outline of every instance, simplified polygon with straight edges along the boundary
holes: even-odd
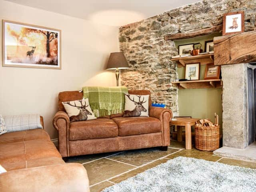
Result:
[[[170,145],[170,120],[172,119],[172,111],[160,107],[150,107],[149,116],[158,118],[162,126],[163,146]]]

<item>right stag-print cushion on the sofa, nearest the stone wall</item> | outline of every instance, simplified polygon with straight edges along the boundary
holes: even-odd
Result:
[[[124,94],[124,117],[148,117],[148,98],[149,95]]]

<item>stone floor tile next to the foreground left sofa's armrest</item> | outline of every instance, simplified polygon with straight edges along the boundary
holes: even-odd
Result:
[[[84,164],[84,167],[87,170],[90,185],[104,181],[108,178],[135,168],[134,166],[119,163],[106,158],[86,163]]]

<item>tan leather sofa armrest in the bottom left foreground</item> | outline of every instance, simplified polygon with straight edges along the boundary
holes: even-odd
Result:
[[[90,192],[87,172],[78,163],[12,170],[0,174],[1,192]]]

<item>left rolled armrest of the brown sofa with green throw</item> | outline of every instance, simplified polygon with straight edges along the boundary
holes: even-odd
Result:
[[[68,130],[70,128],[68,114],[64,111],[58,111],[53,118],[53,126],[58,130],[59,152],[62,157],[68,157]]]

